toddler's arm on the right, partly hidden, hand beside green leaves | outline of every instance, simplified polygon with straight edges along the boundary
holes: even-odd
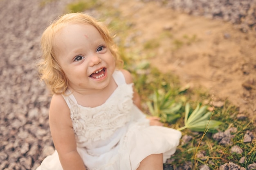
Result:
[[[130,72],[128,72],[125,69],[121,69],[121,72],[124,74],[124,77],[126,79],[126,83],[130,84],[132,83],[132,75],[130,74]],[[140,101],[140,96],[138,94],[138,92],[135,90],[134,86],[133,86],[133,103],[141,110],[141,101]],[[163,123],[160,122],[159,117],[155,117],[155,116],[150,116],[147,117],[150,121],[150,125],[158,125],[158,126],[162,126]]]

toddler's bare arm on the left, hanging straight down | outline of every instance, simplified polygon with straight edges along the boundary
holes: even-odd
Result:
[[[52,97],[49,108],[49,125],[63,170],[86,170],[83,160],[76,151],[70,109],[61,95]]]

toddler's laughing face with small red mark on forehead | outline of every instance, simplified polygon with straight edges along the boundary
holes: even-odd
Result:
[[[108,86],[115,60],[92,25],[65,26],[54,38],[54,52],[70,88],[92,92]]]

